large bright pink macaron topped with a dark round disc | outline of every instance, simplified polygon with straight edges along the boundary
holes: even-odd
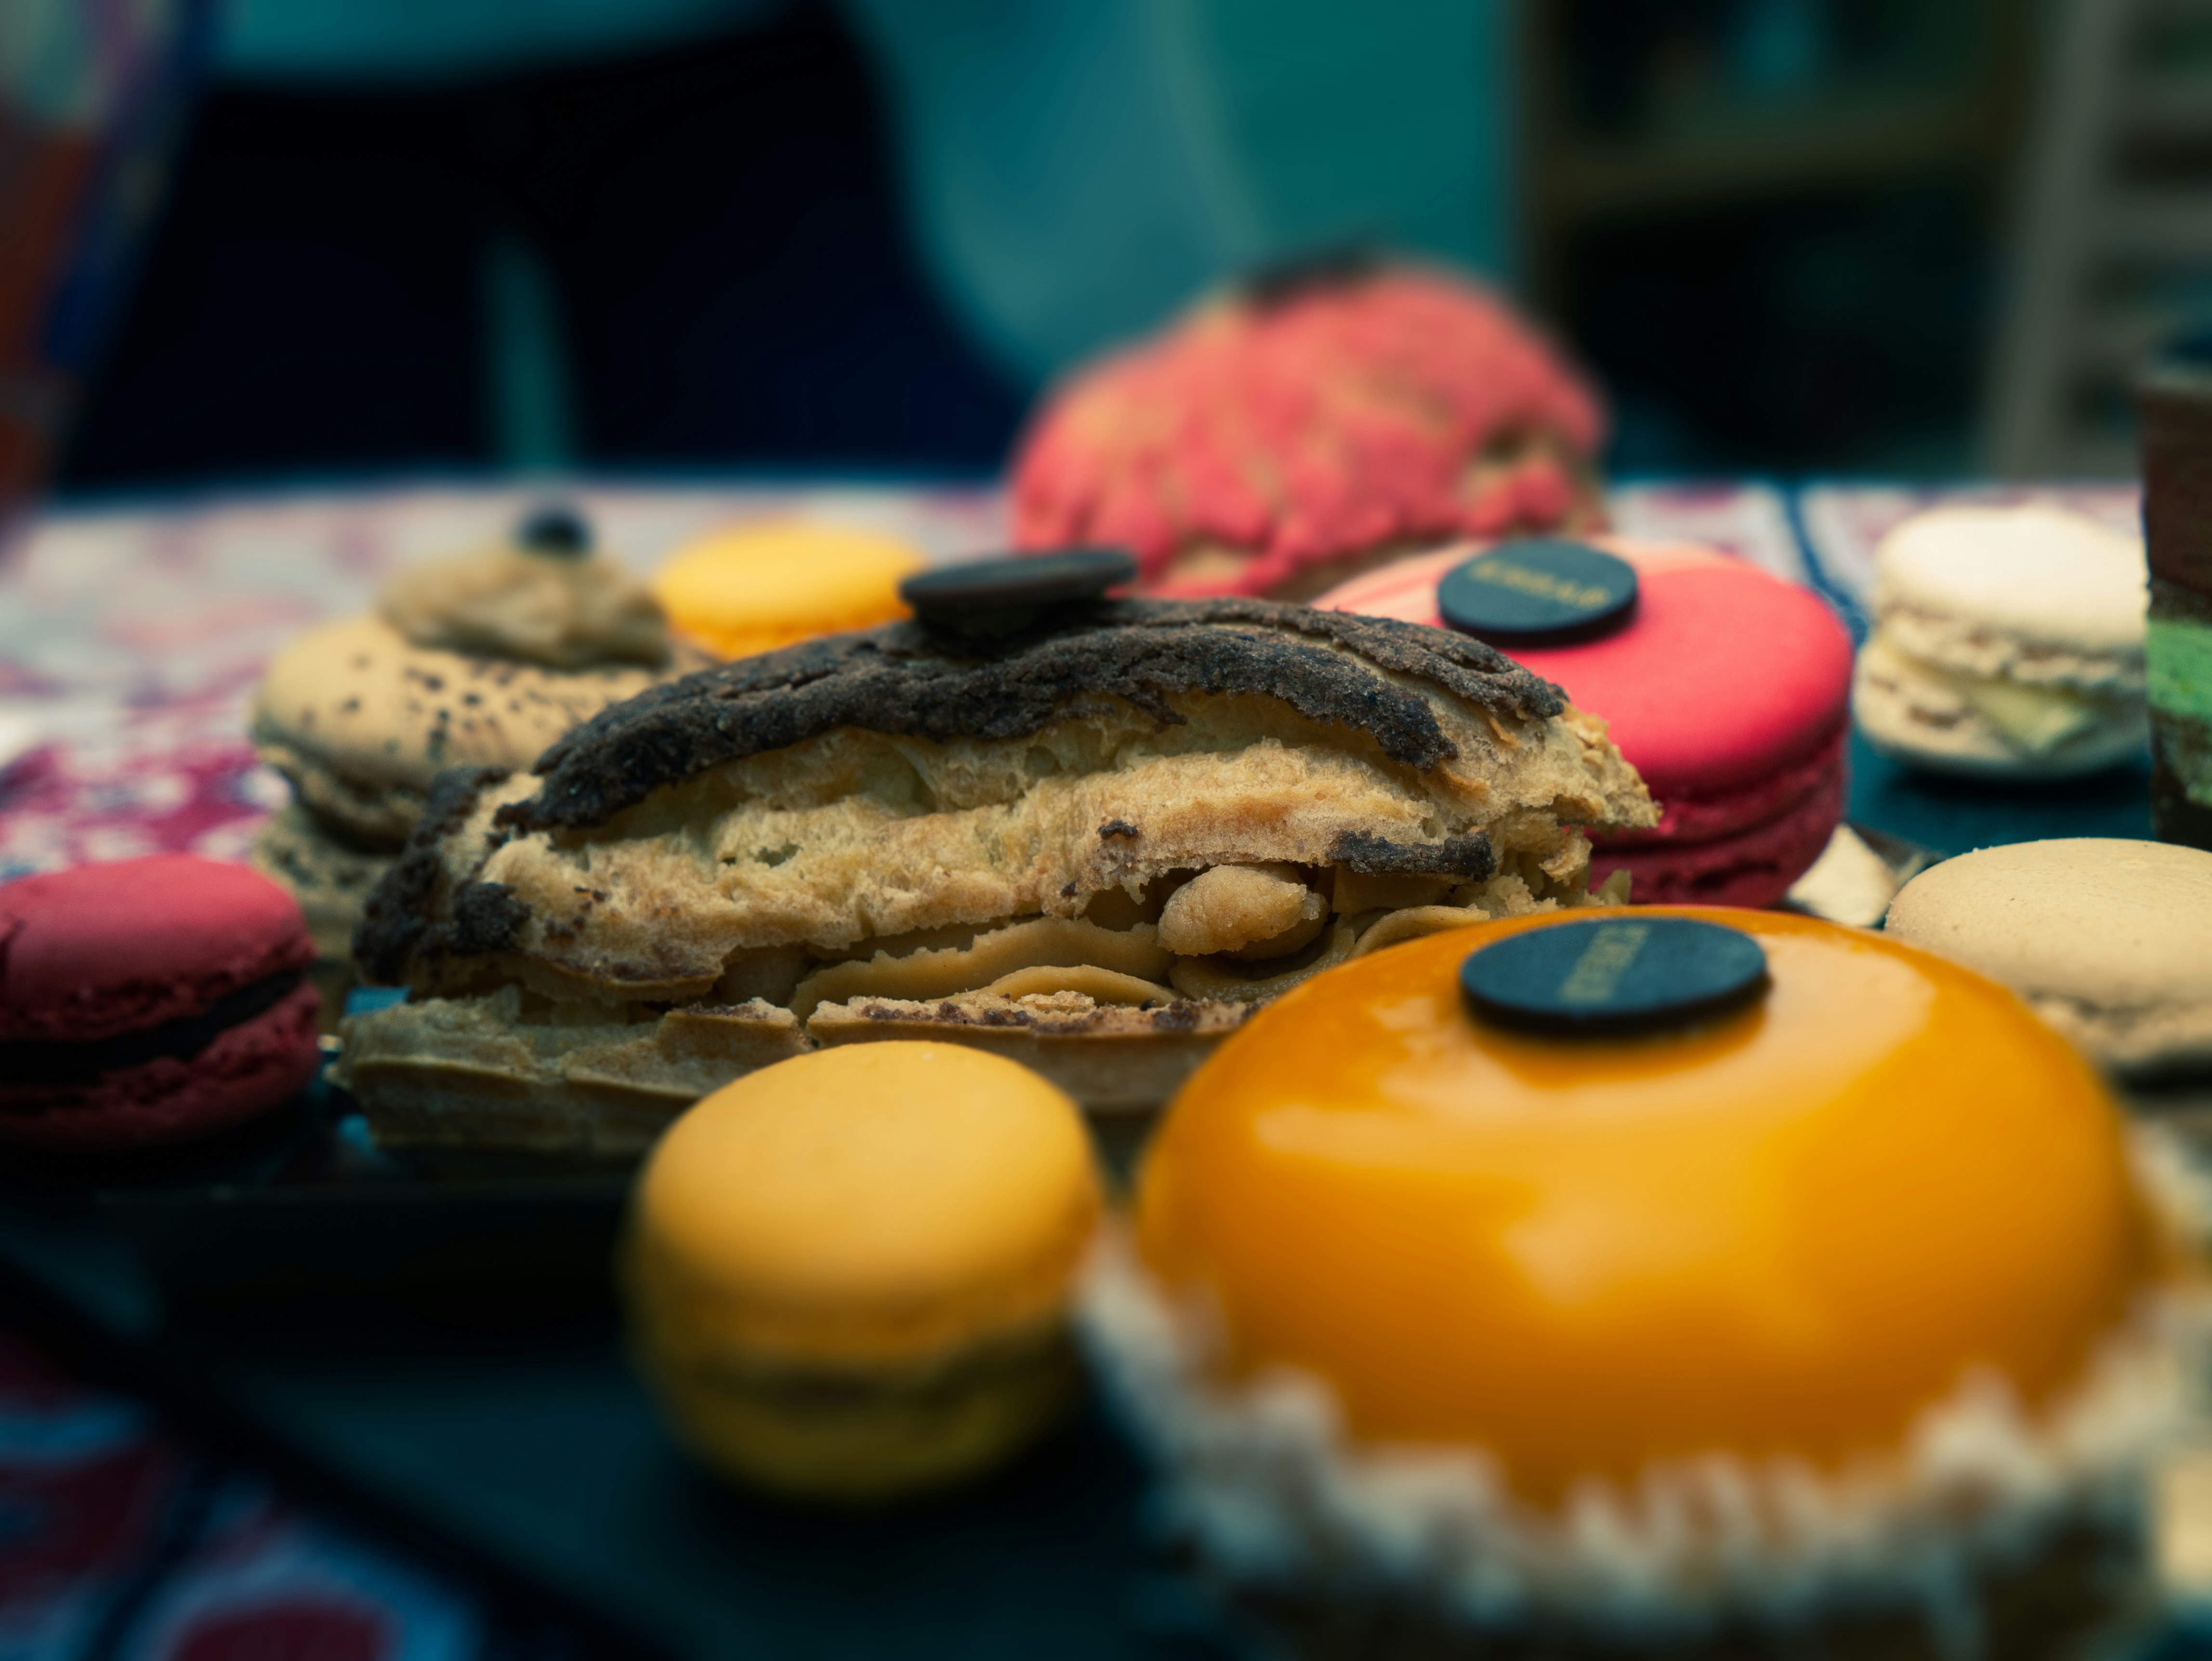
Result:
[[[1314,604],[1444,626],[1453,602],[1451,626],[1604,717],[1650,785],[1657,829],[1599,843],[1593,880],[1626,869],[1646,905],[1774,905],[1820,858],[1843,818],[1851,637],[1818,595],[1710,549],[1595,537],[1447,549]]]

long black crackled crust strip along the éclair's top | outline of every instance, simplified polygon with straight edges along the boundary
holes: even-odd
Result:
[[[1168,701],[1181,692],[1272,697],[1365,732],[1420,772],[1458,754],[1420,692],[1378,681],[1347,652],[1509,721],[1566,708],[1559,688],[1467,635],[1265,599],[1119,599],[991,641],[905,621],[648,688],[553,743],[533,767],[544,787],[498,821],[515,832],[602,825],[661,785],[836,728],[1026,739],[1099,699],[1166,728],[1183,719]]]

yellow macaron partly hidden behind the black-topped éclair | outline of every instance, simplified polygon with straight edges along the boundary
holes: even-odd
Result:
[[[927,562],[898,537],[799,520],[712,531],[653,575],[670,626],[723,657],[905,617]]]

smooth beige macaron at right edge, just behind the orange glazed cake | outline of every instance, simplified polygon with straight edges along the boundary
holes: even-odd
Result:
[[[2128,1077],[2212,1068],[2212,854],[2079,836],[1984,847],[1900,889],[1887,929],[1978,969]]]

